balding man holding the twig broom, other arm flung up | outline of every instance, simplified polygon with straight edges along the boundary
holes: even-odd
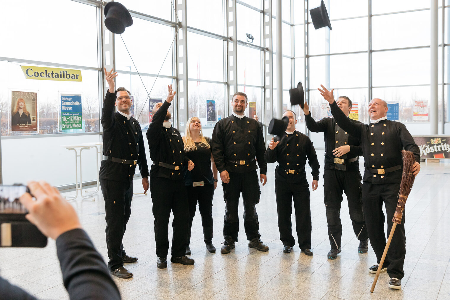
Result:
[[[360,141],[364,155],[364,177],[362,201],[365,222],[369,232],[370,245],[377,255],[377,264],[369,268],[370,273],[377,273],[378,264],[386,246],[384,223],[387,220],[387,232],[391,232],[392,217],[397,207],[398,194],[402,176],[401,150],[414,153],[416,162],[413,173],[420,171],[420,152],[410,132],[400,122],[387,120],[387,103],[374,98],[369,102],[369,124],[356,124],[348,120],[334,101],[333,90],[324,86],[318,89],[320,94],[330,104],[331,113],[338,125],[356,136]],[[386,208],[386,220],[383,214],[383,203]],[[388,286],[392,289],[401,288],[404,277],[403,263],[405,261],[405,213],[402,223],[398,224],[392,242],[387,251],[382,271],[387,271],[391,280]]]

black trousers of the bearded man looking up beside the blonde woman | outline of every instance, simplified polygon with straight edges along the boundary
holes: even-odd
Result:
[[[183,256],[188,245],[189,207],[183,180],[162,177],[150,179],[157,257],[167,257],[169,252],[169,218],[172,222],[172,256]]]

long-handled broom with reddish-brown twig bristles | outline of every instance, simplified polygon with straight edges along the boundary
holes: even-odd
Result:
[[[394,217],[392,218],[392,229],[389,234],[389,238],[387,239],[386,247],[384,247],[383,256],[381,257],[380,264],[378,265],[377,275],[375,275],[374,283],[372,284],[372,288],[370,292],[373,293],[375,289],[375,285],[377,284],[378,276],[380,275],[380,271],[383,268],[384,259],[386,258],[387,250],[389,249],[389,245],[391,244],[392,236],[394,236],[395,228],[397,224],[401,223],[401,218],[403,216],[403,211],[405,210],[405,203],[410,195],[411,189],[414,184],[414,174],[413,174],[413,166],[414,166],[414,154],[411,151],[401,150],[401,155],[403,157],[403,174],[401,176],[400,183],[400,191],[397,202],[397,208],[394,213]]]

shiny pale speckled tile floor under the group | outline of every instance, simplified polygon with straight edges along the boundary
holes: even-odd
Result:
[[[317,151],[322,166],[323,153],[323,150]],[[375,255],[372,249],[367,254],[357,253],[358,241],[351,227],[345,198],[341,211],[342,253],[338,259],[327,259],[330,246],[323,182],[317,191],[311,192],[314,255],[300,253],[297,246],[292,253],[283,253],[274,194],[275,164],[269,165],[269,180],[261,187],[261,203],[257,205],[261,239],[270,247],[268,252],[247,247],[241,222],[236,249],[228,255],[222,255],[220,251],[209,253],[204,246],[197,211],[191,237],[191,257],[195,264],[183,266],[169,262],[166,269],[157,269],[151,198],[150,195],[136,195],[123,244],[127,254],[137,256],[139,260],[135,264],[126,264],[134,277],[114,277],[114,281],[126,300],[450,299],[450,161],[421,163],[421,167],[405,208],[406,257],[401,290],[388,288],[389,278],[387,273],[382,273],[374,293],[370,293],[374,274],[370,274],[368,268],[376,262]],[[306,173],[311,173],[311,169],[306,168]],[[311,178],[308,179],[311,182]],[[136,180],[134,184],[135,191],[142,188],[140,181]],[[213,244],[218,250],[223,241],[222,195],[219,185],[213,206]],[[103,198],[101,193],[95,198],[95,202],[79,198],[72,204],[97,250],[108,260]],[[242,212],[241,202],[241,221]],[[40,299],[69,299],[62,284],[54,241],[49,240],[49,245],[43,249],[1,248],[0,257],[1,276],[15,285]]]

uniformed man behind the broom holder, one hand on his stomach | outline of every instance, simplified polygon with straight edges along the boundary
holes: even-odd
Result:
[[[348,117],[351,110],[351,100],[340,96],[336,102],[342,112]],[[324,203],[328,223],[328,237],[331,250],[328,259],[336,259],[341,253],[341,203],[342,192],[347,195],[348,212],[350,214],[353,232],[360,241],[358,253],[369,250],[369,234],[364,222],[361,201],[361,174],[359,155],[362,155],[360,143],[356,136],[342,130],[334,118],[323,118],[319,122],[311,117],[309,107],[305,103],[306,127],[312,132],[324,132],[325,168],[324,168]],[[353,123],[361,122],[349,119]]]

